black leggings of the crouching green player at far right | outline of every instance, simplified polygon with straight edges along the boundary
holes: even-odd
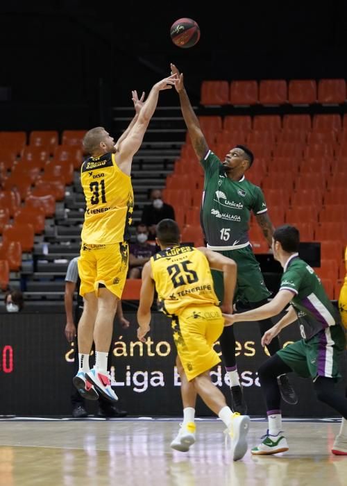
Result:
[[[280,411],[280,389],[277,377],[292,371],[292,369],[281,360],[278,354],[266,360],[258,370],[262,393],[266,401],[266,410],[273,413]],[[343,393],[335,389],[335,379],[319,376],[314,380],[314,391],[319,401],[329,405],[333,410],[339,412],[347,419],[347,399]]]

